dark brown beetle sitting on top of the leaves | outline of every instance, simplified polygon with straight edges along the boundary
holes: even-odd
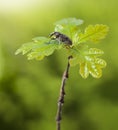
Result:
[[[63,42],[66,45],[69,45],[69,46],[72,45],[71,39],[65,34],[62,34],[60,32],[53,32],[49,35],[49,37],[51,37],[51,39],[53,40],[57,39],[59,42]]]

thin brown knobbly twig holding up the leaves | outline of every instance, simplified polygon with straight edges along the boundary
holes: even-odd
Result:
[[[59,95],[59,100],[58,100],[58,110],[57,110],[57,116],[56,116],[57,130],[61,130],[62,106],[64,104],[64,96],[65,96],[65,83],[69,77],[69,69],[70,69],[69,60],[71,58],[72,58],[72,56],[68,57],[67,68],[64,71],[63,77],[62,77],[62,84],[61,84],[61,88],[60,88],[60,95]]]

